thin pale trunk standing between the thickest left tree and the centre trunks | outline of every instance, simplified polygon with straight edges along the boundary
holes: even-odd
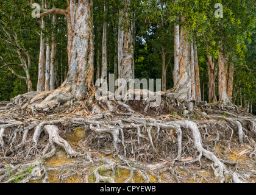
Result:
[[[103,23],[103,35],[102,35],[102,73],[101,79],[107,80],[107,22],[106,17],[106,7],[104,2],[104,23]]]

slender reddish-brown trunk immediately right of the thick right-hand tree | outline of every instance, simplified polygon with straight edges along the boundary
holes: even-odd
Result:
[[[196,80],[196,101],[201,102],[202,96],[201,96],[201,85],[200,85],[200,73],[199,73],[199,64],[198,64],[198,57],[197,57],[197,46],[196,43],[194,43],[194,74],[195,74],[195,80]]]

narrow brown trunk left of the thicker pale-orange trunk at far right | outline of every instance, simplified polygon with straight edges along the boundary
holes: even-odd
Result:
[[[214,62],[212,55],[208,56],[208,102],[217,102],[215,94]]]

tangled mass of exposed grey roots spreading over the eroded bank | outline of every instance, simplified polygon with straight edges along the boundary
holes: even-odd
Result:
[[[17,96],[13,102],[1,104],[0,157],[4,165],[0,166],[0,182],[49,182],[49,168],[43,163],[28,162],[35,158],[48,160],[60,148],[65,150],[68,157],[77,159],[79,165],[94,166],[94,182],[115,182],[116,169],[129,170],[130,176],[125,182],[135,182],[136,174],[140,174],[143,182],[150,182],[151,177],[162,182],[163,175],[166,180],[181,182],[183,178],[176,166],[199,164],[199,168],[202,168],[209,160],[213,163],[210,167],[219,182],[248,182],[248,178],[254,176],[239,172],[237,161],[222,159],[224,155],[216,151],[219,146],[226,151],[229,148],[231,152],[230,144],[237,139],[240,145],[254,144],[249,157],[255,158],[254,117],[223,118],[205,113],[204,117],[209,121],[192,121],[189,119],[191,114],[186,118],[170,113],[162,115],[165,114],[164,110],[169,112],[171,107],[174,110],[180,108],[182,111],[178,113],[191,110],[177,99],[168,99],[167,95],[165,98],[158,107],[150,106],[150,101],[143,101],[141,104],[145,107],[133,110],[137,103],[132,101],[94,101],[91,98],[74,102],[70,89],[60,88],[54,92],[27,93]],[[239,109],[231,105],[209,107],[202,103],[201,106],[207,113],[215,107],[219,112],[231,113],[229,116],[239,114]],[[65,107],[70,110],[65,111]],[[53,108],[56,108],[55,112]],[[152,116],[145,116],[149,113]],[[79,142],[68,143],[67,134],[74,127],[81,127],[86,137]],[[91,151],[113,154],[113,158],[118,157],[119,161],[104,158],[99,162],[98,158],[88,155]],[[229,166],[235,166],[235,171]],[[29,173],[26,172],[28,170]],[[188,169],[184,170],[194,180],[199,177]],[[77,172],[63,175],[62,180]],[[107,172],[112,172],[112,176],[104,175]],[[90,176],[88,172],[87,176]],[[206,181],[206,177],[197,179],[199,182],[203,180]]]

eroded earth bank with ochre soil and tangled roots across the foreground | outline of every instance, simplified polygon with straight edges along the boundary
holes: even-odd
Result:
[[[0,182],[256,181],[256,118],[235,105],[97,102],[95,112],[84,101],[35,112],[28,97],[0,104]]]

